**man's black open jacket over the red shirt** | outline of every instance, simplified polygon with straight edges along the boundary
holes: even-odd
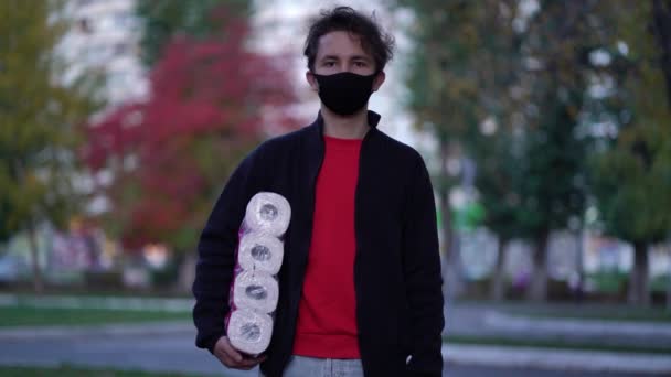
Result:
[[[354,289],[359,346],[365,376],[440,376],[443,280],[434,193],[422,157],[371,129],[361,147],[355,191]],[[237,230],[249,198],[270,191],[291,205],[279,279],[279,302],[262,370],[281,376],[294,346],[308,262],[315,187],[324,155],[323,120],[270,139],[235,170],[198,246],[193,283],[196,345],[213,351],[225,334]]]

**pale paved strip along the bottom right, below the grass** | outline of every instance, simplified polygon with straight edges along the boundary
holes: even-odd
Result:
[[[475,366],[671,375],[668,355],[447,344],[443,358]]]

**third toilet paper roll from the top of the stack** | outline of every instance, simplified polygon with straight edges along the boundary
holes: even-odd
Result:
[[[277,280],[268,272],[243,271],[233,282],[233,303],[238,309],[271,313],[277,308]]]

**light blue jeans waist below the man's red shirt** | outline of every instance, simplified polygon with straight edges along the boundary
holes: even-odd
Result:
[[[263,374],[259,374],[263,376]],[[361,359],[317,358],[294,355],[284,377],[363,377]]]

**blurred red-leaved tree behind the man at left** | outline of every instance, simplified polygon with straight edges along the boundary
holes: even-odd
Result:
[[[88,127],[84,150],[110,203],[108,228],[128,250],[191,250],[232,169],[269,134],[297,125],[288,60],[249,51],[248,28],[217,40],[180,37],[150,74],[149,97]],[[97,174],[104,172],[104,174]]]

